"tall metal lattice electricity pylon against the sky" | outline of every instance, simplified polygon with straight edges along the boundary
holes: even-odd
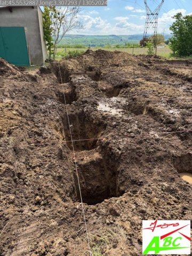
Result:
[[[146,24],[145,24],[143,38],[147,37],[147,32],[150,27],[153,28],[154,37],[157,38],[158,14],[159,14],[159,11],[161,10],[161,7],[162,7],[164,1],[165,0],[162,0],[161,3],[156,7],[156,9],[154,11],[151,11],[151,9],[149,8],[149,5],[147,4],[147,0],[144,0],[146,11],[147,11],[147,17],[146,17]],[[156,42],[156,39],[154,41]],[[155,47],[156,47],[156,45],[155,45]]]

